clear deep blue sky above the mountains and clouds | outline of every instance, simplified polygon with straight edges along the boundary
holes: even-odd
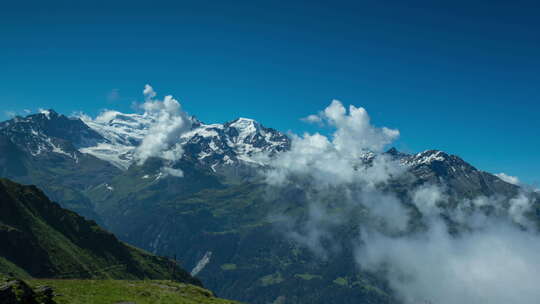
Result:
[[[294,132],[333,98],[540,183],[533,1],[25,1],[0,11],[0,115],[132,111],[144,84],[206,122]]]

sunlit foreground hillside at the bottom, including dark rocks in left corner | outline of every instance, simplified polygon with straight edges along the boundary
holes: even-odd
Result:
[[[234,304],[191,284],[170,280],[21,280],[0,275],[2,304]]]

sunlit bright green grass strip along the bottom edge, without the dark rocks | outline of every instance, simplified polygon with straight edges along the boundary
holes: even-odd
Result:
[[[31,279],[32,287],[51,286],[58,304],[234,304],[206,289],[165,280],[52,280]]]

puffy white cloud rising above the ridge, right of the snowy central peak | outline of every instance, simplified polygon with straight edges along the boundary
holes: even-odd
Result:
[[[309,118],[311,117],[311,118]],[[384,155],[372,158],[399,136],[399,131],[378,128],[370,123],[363,108],[349,111],[337,100],[310,121],[325,122],[335,128],[328,137],[320,133],[292,135],[291,149],[269,161],[267,181],[278,185],[291,176],[310,176],[317,182],[336,185],[363,181],[375,184],[401,173],[401,166]],[[365,166],[364,162],[370,165]]]

